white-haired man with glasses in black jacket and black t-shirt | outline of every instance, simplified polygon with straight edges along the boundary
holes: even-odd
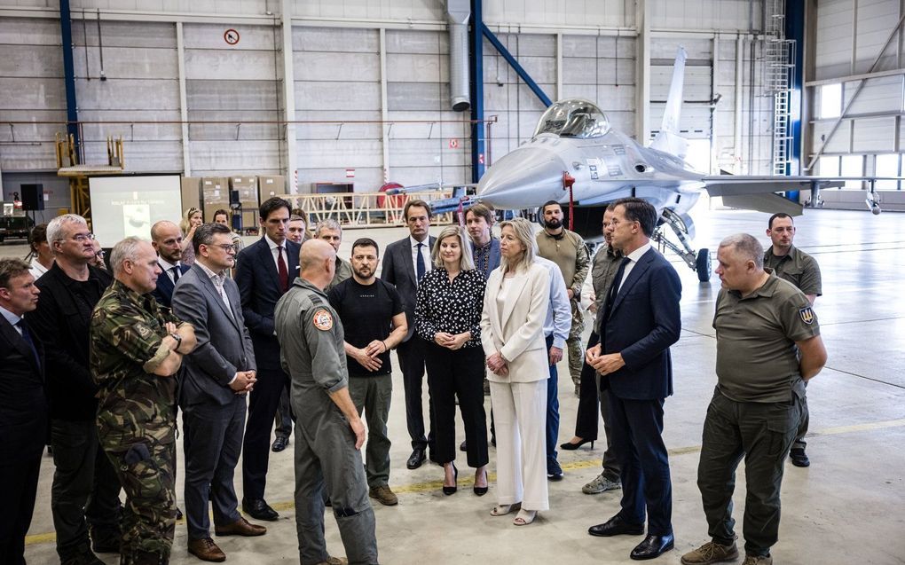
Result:
[[[57,216],[47,224],[53,266],[35,283],[38,307],[28,315],[46,350],[51,411],[51,511],[62,565],[102,562],[119,552],[119,478],[98,439],[98,386],[91,378],[91,311],[113,277],[91,267],[94,235],[84,218]],[[93,550],[93,551],[92,551]]]

